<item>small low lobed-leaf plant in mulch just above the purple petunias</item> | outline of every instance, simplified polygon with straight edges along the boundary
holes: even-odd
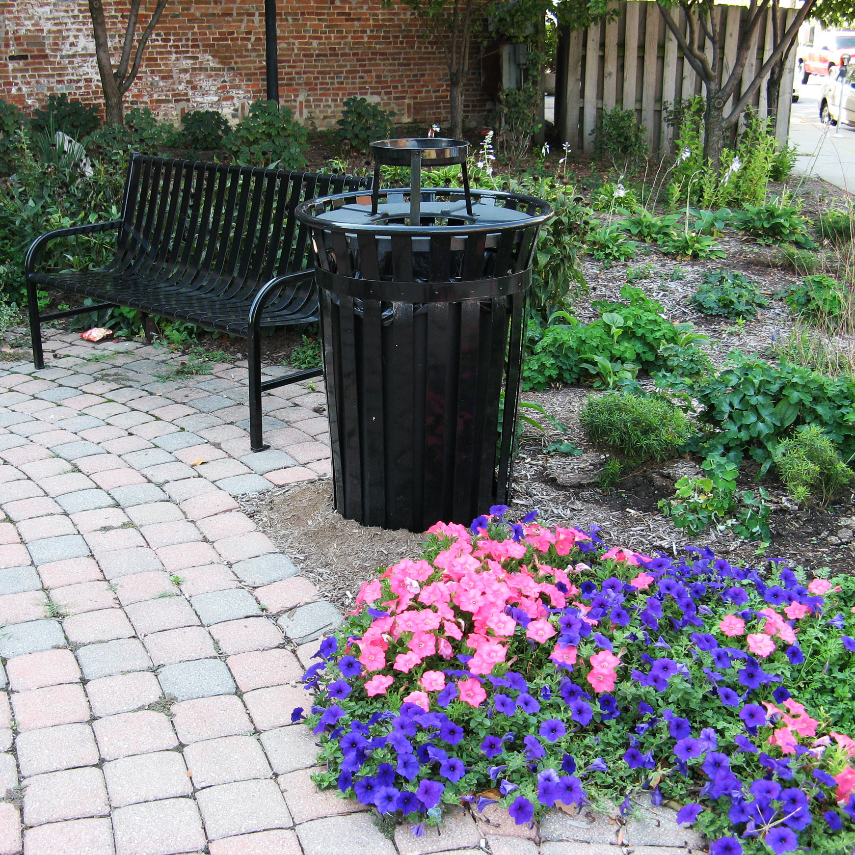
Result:
[[[674,485],[674,498],[659,502],[659,510],[670,516],[675,528],[701,534],[706,528],[730,528],[747,540],[770,539],[769,494],[738,491],[739,469],[724,457],[707,457],[701,467],[706,475],[683,477]]]

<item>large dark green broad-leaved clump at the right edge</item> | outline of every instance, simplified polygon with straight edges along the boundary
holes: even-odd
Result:
[[[715,376],[681,380],[670,375],[660,380],[698,402],[699,421],[711,428],[705,440],[710,453],[734,460],[747,453],[762,464],[760,475],[769,469],[781,440],[804,424],[822,428],[844,457],[855,454],[852,378],[827,377],[793,363],[775,366],[734,351],[728,366]]]

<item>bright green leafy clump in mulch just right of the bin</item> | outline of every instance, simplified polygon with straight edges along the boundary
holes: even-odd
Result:
[[[686,345],[687,339],[693,337],[692,324],[673,324],[663,318],[662,306],[647,298],[640,288],[624,285],[621,296],[627,302],[593,302],[593,309],[601,315],[597,321],[583,324],[566,313],[558,313],[548,327],[535,330],[532,338],[536,340],[524,368],[526,387],[543,389],[554,382],[578,383],[589,373],[584,364],[594,363],[594,354],[621,366],[629,364],[645,371],[663,369],[666,363],[660,348],[667,344]],[[617,315],[622,324],[618,326],[614,317],[605,321],[606,315]]]

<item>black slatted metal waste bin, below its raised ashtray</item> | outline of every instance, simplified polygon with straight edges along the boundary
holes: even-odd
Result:
[[[510,491],[540,199],[425,189],[298,208],[311,233],[335,507],[363,525],[469,524]],[[469,210],[472,214],[469,214]]]

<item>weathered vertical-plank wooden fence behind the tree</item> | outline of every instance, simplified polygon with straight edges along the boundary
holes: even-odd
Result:
[[[614,21],[560,34],[555,91],[559,139],[567,140],[575,150],[590,152],[598,113],[619,107],[635,110],[638,121],[647,129],[647,144],[652,151],[666,152],[675,129],[663,119],[663,104],[667,107],[677,100],[704,94],[703,84],[665,25],[656,3],[621,0],[616,7],[618,15]],[[686,33],[686,14],[679,7],[672,9],[675,21]],[[748,9],[723,4],[714,9],[718,16],[719,56],[722,57],[719,73],[727,80],[734,65],[740,29],[747,26]],[[783,28],[793,20],[796,12],[795,9],[781,9],[779,14]],[[736,97],[771,53],[771,15],[769,11],[754,34]],[[696,32],[703,38],[700,27],[696,27]],[[705,50],[711,59],[709,42]],[[778,101],[775,136],[781,143],[786,142],[789,132],[794,68],[793,48],[781,80]],[[752,107],[762,117],[768,113],[765,79],[754,93]]]

